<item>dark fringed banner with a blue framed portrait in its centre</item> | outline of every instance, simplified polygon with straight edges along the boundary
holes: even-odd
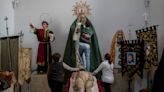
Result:
[[[144,67],[144,41],[127,40],[120,42],[120,44],[122,75],[127,72],[129,78],[131,78],[137,73],[142,78]]]

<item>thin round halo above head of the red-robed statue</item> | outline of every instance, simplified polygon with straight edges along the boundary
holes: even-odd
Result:
[[[52,23],[52,17],[49,13],[41,13],[40,14],[40,22],[47,21],[49,24]]]

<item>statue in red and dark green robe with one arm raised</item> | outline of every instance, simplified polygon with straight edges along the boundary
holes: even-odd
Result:
[[[36,34],[39,46],[38,46],[38,55],[37,55],[37,71],[38,73],[47,72],[47,64],[52,62],[51,54],[51,45],[50,42],[54,40],[54,35],[51,30],[48,28],[48,22],[42,22],[42,29],[35,28],[30,24],[31,29],[34,34]]]

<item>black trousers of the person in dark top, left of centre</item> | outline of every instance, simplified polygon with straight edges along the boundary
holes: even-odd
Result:
[[[48,79],[48,85],[51,89],[51,92],[62,92],[63,82]]]

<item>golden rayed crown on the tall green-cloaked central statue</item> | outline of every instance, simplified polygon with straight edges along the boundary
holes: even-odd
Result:
[[[91,15],[90,11],[90,5],[88,5],[86,2],[80,1],[79,3],[76,2],[76,5],[73,6],[73,12],[75,16],[88,16]]]

